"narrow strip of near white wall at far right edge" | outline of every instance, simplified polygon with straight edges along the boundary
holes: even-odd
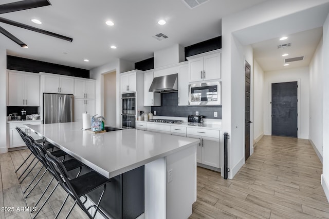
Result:
[[[322,187],[329,201],[329,15],[323,24],[323,174]]]

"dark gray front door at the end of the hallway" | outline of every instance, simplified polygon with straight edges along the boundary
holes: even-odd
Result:
[[[297,82],[272,84],[272,135],[297,137]]]

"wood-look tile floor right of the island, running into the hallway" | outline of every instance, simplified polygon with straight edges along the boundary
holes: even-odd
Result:
[[[329,218],[321,173],[308,140],[264,136],[232,180],[197,168],[190,218]]]

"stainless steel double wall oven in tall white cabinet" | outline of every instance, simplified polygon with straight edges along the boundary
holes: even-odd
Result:
[[[122,128],[135,128],[136,121],[136,93],[123,93],[121,95]]]

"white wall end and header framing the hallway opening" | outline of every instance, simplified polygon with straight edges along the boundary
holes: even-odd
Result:
[[[327,3],[327,1],[300,0],[298,4],[296,4],[296,1],[286,0],[266,1],[239,13],[222,18],[222,129],[223,132],[228,132],[231,135],[228,141],[228,168],[231,169],[228,175],[229,178],[232,178],[241,168],[243,165],[241,161],[244,160],[241,159],[244,156],[244,145],[242,141],[244,136],[242,129],[244,127],[244,116],[242,115],[242,110],[239,110],[244,107],[244,101],[241,98],[243,94],[239,92],[244,92],[242,90],[244,88],[244,79],[241,79],[241,77],[244,77],[243,57],[245,51],[240,43],[240,39],[237,39],[234,35],[239,37],[239,34],[237,34],[239,30],[252,29],[262,23],[273,21],[324,3]],[[281,25],[284,27],[285,24],[282,23]],[[297,25],[303,26],[303,24],[299,24],[298,22],[295,26]],[[285,28],[289,29],[293,27],[289,26]],[[299,31],[302,31],[302,29],[299,29]],[[275,37],[273,31],[271,34],[266,34],[266,32],[266,29],[258,30],[257,36],[259,36],[259,41],[265,41],[266,39]],[[255,33],[253,32],[252,35],[255,36]],[[243,36],[240,38],[242,41]]]

